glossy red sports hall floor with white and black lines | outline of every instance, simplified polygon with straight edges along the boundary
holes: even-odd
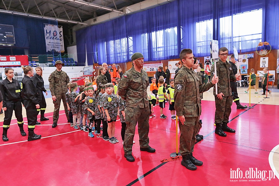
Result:
[[[203,165],[195,171],[181,166],[181,160],[160,162],[176,149],[175,121],[170,119],[168,104],[164,109],[167,119],[159,118],[156,106],[156,117],[149,120],[150,146],[156,149],[155,153],[141,152],[139,136],[135,135],[135,162],[128,162],[123,156],[120,121],[116,123],[120,142],[110,144],[96,136],[89,138],[88,133],[65,124],[63,111],[58,120],[60,125],[53,129],[52,113],[47,113],[50,120],[35,127],[35,133],[42,135],[42,139],[28,142],[15,124],[8,130],[9,141],[0,141],[0,185],[279,185],[276,176],[265,181],[253,179],[253,175],[243,178],[249,168],[257,168],[261,177],[269,177],[272,169],[268,156],[279,144],[278,116],[274,114],[279,113],[279,106],[251,106],[254,108],[237,110],[232,105],[228,126],[236,129],[236,133],[221,137],[214,133],[215,102],[202,101],[200,134],[205,137],[195,145],[193,155]],[[14,123],[16,120],[12,120],[11,124]],[[231,170],[237,168],[238,173],[243,173],[242,179],[231,177]]]

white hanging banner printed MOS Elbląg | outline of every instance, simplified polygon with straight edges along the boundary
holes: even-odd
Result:
[[[45,25],[45,39],[47,51],[55,50],[57,52],[64,52],[63,29],[58,28],[57,25]]]

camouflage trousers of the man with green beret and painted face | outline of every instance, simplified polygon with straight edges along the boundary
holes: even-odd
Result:
[[[131,154],[133,139],[135,136],[135,127],[138,123],[139,146],[141,148],[149,147],[149,107],[146,108],[125,108],[125,122],[127,124],[124,136],[124,153]]]

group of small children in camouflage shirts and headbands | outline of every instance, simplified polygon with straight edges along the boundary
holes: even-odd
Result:
[[[118,143],[115,137],[115,122],[118,114],[122,122],[122,140],[125,134],[125,101],[117,97],[115,89],[120,79],[116,80],[116,85],[112,83],[99,84],[98,89],[94,90],[96,79],[93,84],[86,82],[85,86],[79,87],[77,83],[68,83],[66,93],[66,103],[69,111],[70,126],[74,129],[88,132],[88,136],[93,138],[103,138],[112,144]],[[123,116],[124,115],[124,116]],[[88,125],[87,125],[88,123]],[[102,126],[101,127],[101,123]],[[125,126],[124,126],[125,125]],[[101,133],[103,131],[103,134]]]

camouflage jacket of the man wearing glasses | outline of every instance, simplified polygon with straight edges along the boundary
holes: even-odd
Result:
[[[214,65],[211,67],[211,77],[210,80],[212,80],[214,76]],[[233,75],[231,64],[229,64],[227,61],[224,63],[223,61],[219,60],[216,62],[216,72],[217,76],[219,77],[219,82],[217,83],[217,93],[220,94],[221,92],[224,94],[224,96],[230,96],[232,95],[232,89],[230,85],[230,81],[236,81],[235,75]],[[213,90],[213,95],[215,95],[215,86]]]

